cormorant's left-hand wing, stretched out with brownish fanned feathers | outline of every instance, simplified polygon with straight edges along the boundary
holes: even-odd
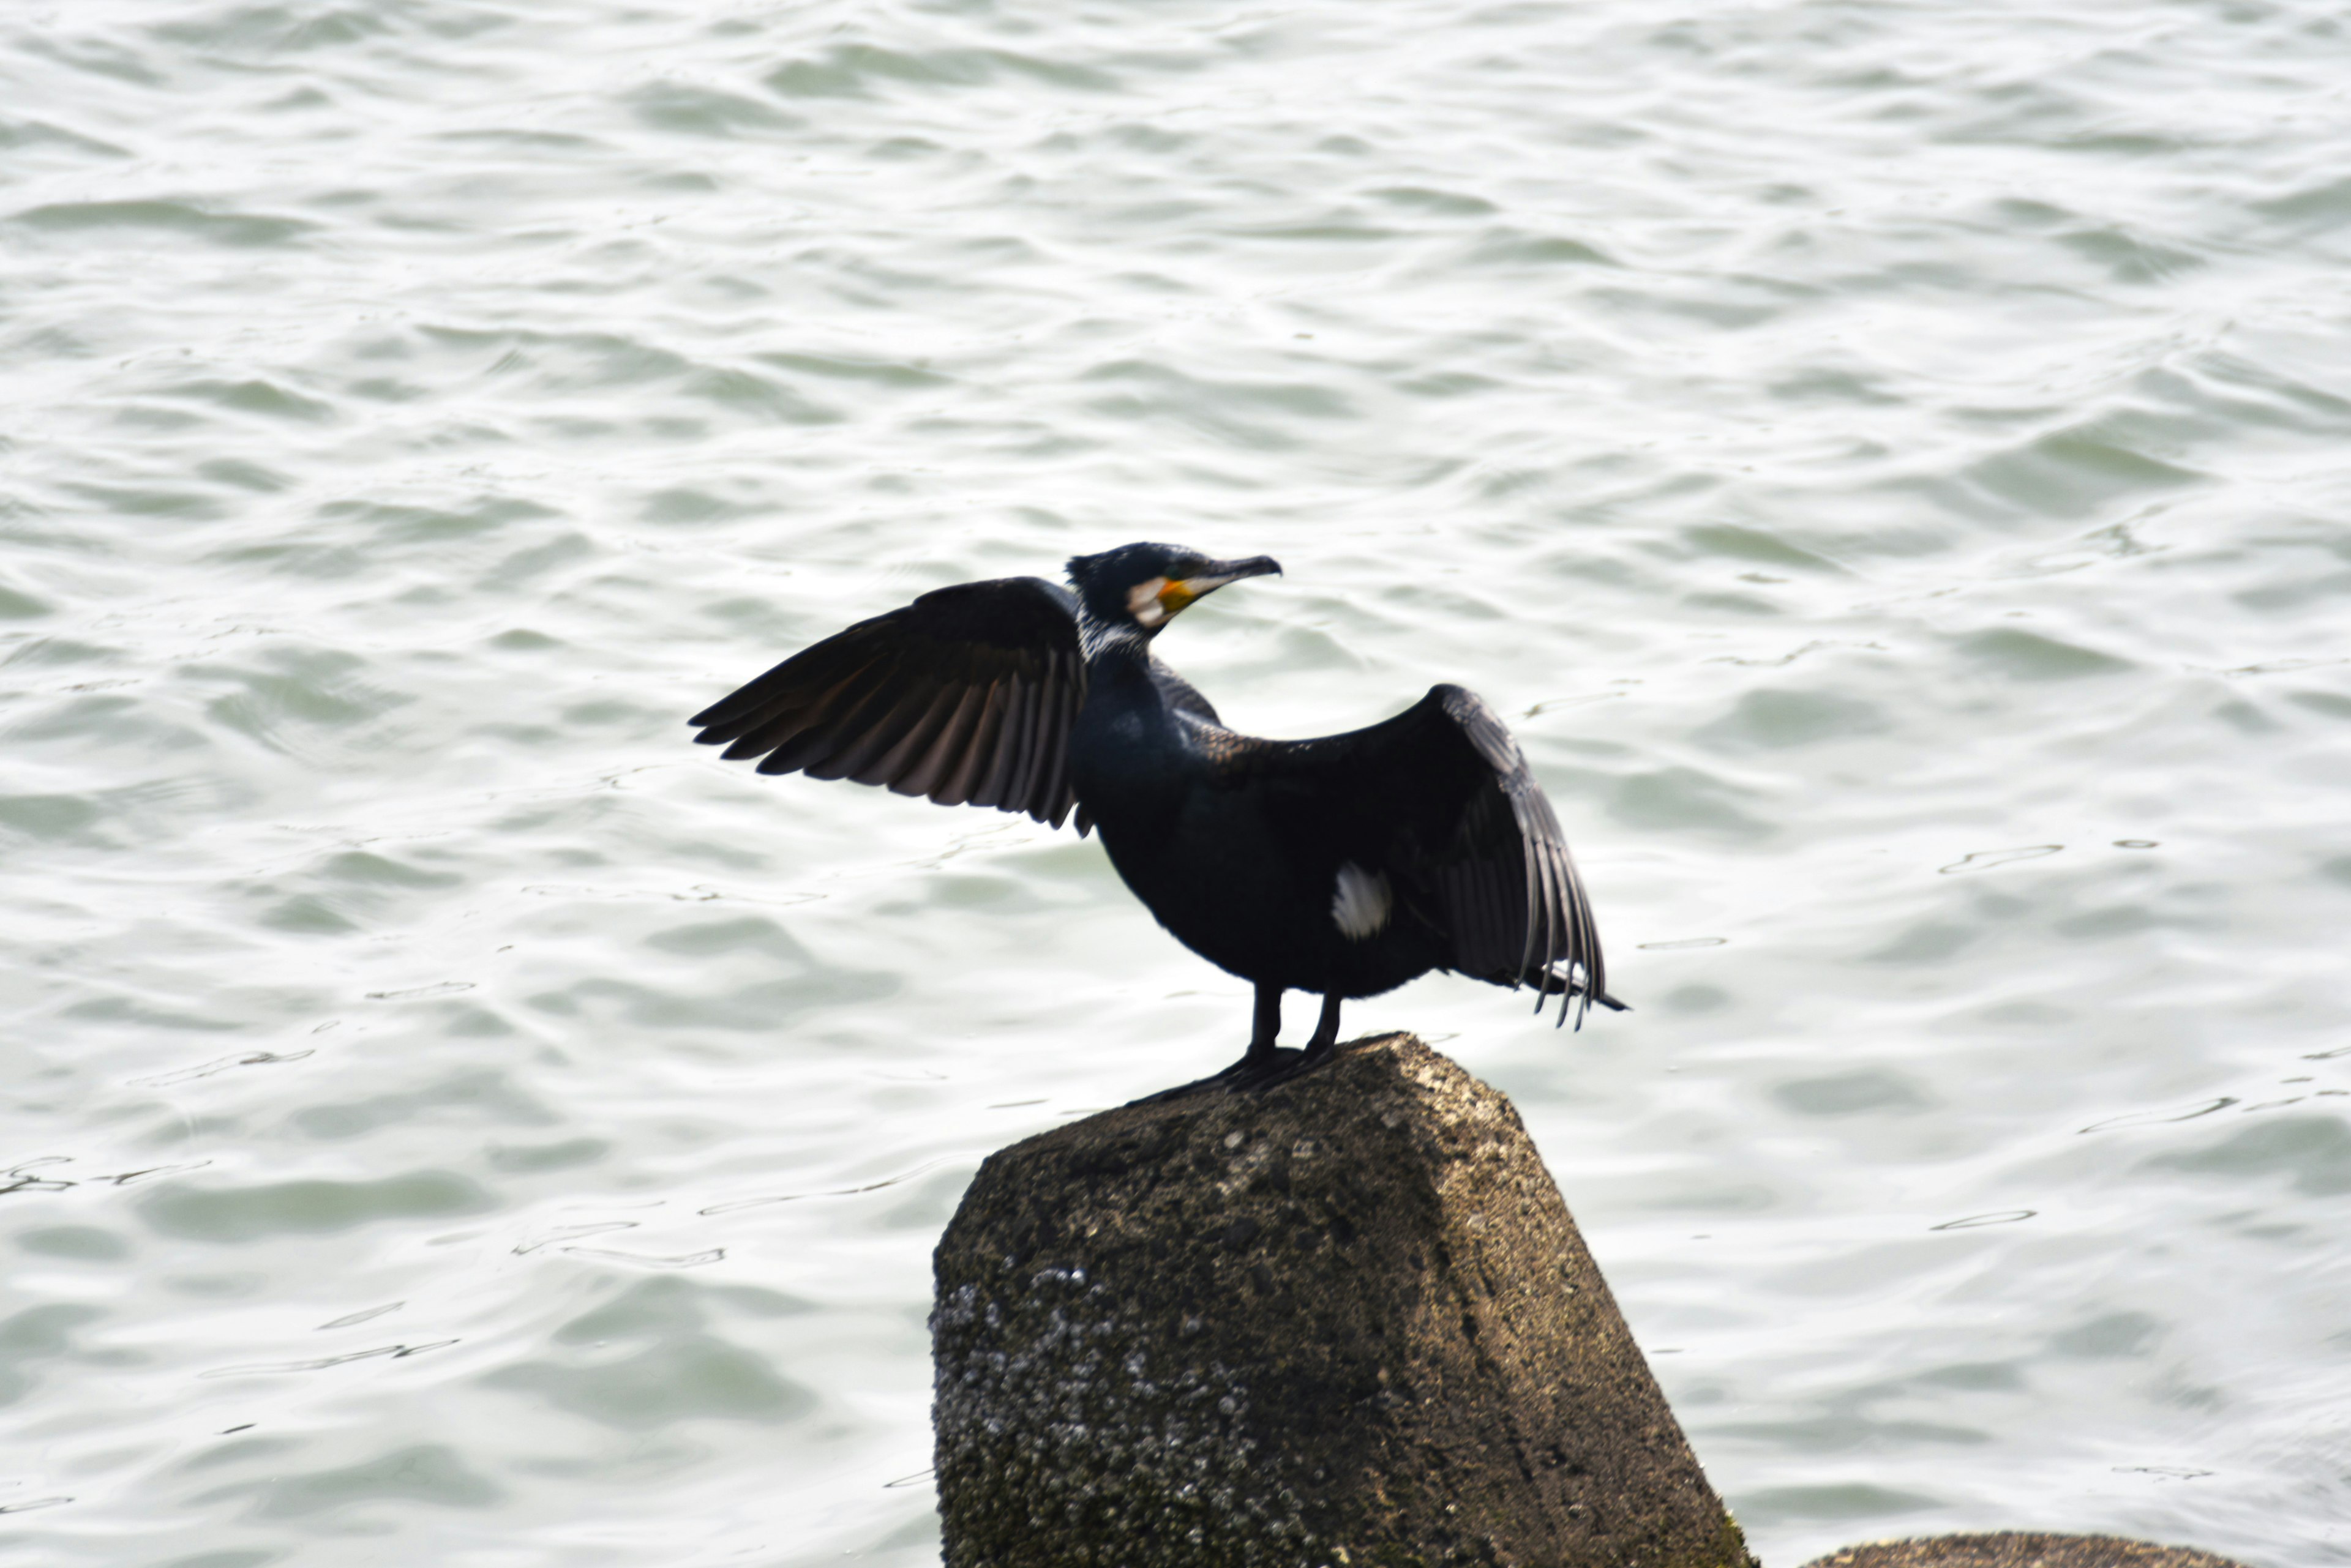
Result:
[[[1086,698],[1077,602],[1044,578],[926,592],[792,654],[689,724],[762,773],[889,785],[1060,827]]]

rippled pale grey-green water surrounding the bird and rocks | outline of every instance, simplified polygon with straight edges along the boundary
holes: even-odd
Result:
[[[1512,715],[1519,1098],[1766,1561],[2351,1563],[2337,7],[0,21],[0,1559],[936,1561],[978,1159],[1220,1065],[1093,842],[686,743],[938,583]],[[1293,999],[1293,1027],[1307,1004]]]

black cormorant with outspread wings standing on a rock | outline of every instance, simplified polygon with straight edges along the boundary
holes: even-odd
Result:
[[[1176,545],[1079,555],[1070,585],[997,578],[785,658],[689,719],[762,773],[889,785],[943,806],[1103,830],[1176,940],[1258,987],[1248,1053],[1201,1084],[1262,1084],[1338,1041],[1345,997],[1432,969],[1608,994],[1601,938],[1552,802],[1493,708],[1460,686],[1319,741],[1225,729],[1152,639],[1194,599],[1281,571]],[[1305,1056],[1277,1051],[1281,992],[1321,992]]]

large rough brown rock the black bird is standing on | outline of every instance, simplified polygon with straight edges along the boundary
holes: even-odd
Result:
[[[1408,1034],[990,1157],[950,1568],[1751,1568],[1519,1114]]]

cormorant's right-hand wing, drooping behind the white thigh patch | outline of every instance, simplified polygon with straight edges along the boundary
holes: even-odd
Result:
[[[1394,719],[1345,736],[1265,743],[1244,759],[1302,790],[1326,853],[1389,877],[1451,947],[1446,969],[1559,992],[1578,1025],[1608,994],[1592,898],[1542,785],[1502,719],[1460,686],[1432,686]]]

